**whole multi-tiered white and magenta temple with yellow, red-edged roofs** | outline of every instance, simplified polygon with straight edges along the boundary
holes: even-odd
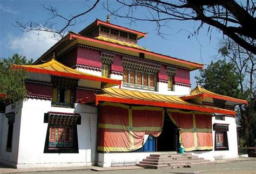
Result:
[[[28,95],[0,101],[0,163],[111,166],[180,144],[206,159],[238,157],[234,106],[247,102],[191,90],[203,64],[138,46],[145,35],[97,19],[19,66]]]

